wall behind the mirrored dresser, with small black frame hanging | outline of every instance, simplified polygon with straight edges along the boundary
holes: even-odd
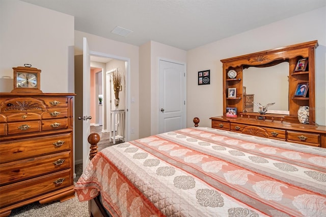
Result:
[[[200,118],[223,115],[223,76],[220,60],[277,47],[318,40],[316,49],[316,123],[326,125],[325,60],[326,8],[271,23],[187,52],[187,126]],[[197,85],[198,71],[210,69],[210,85]]]

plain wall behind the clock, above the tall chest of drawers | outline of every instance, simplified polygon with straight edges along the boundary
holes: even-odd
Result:
[[[0,92],[13,89],[12,67],[25,63],[41,69],[43,93],[73,91],[73,16],[1,0],[0,29]]]

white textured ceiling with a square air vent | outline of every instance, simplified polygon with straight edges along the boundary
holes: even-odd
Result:
[[[188,50],[326,5],[325,0],[21,0],[75,17],[75,30]],[[127,37],[116,27],[133,31]]]

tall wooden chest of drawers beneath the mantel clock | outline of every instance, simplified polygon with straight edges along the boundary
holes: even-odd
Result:
[[[74,197],[74,94],[0,94],[0,216]]]

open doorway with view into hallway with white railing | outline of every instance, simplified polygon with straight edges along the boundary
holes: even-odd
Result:
[[[102,126],[102,133],[109,133],[110,142],[127,141],[127,93],[126,85],[128,62],[110,57],[90,55],[91,95],[90,101],[92,126]],[[92,72],[93,71],[93,72]],[[118,89],[119,104],[113,88],[113,72],[121,75],[121,86]],[[92,110],[93,107],[93,110]]]

